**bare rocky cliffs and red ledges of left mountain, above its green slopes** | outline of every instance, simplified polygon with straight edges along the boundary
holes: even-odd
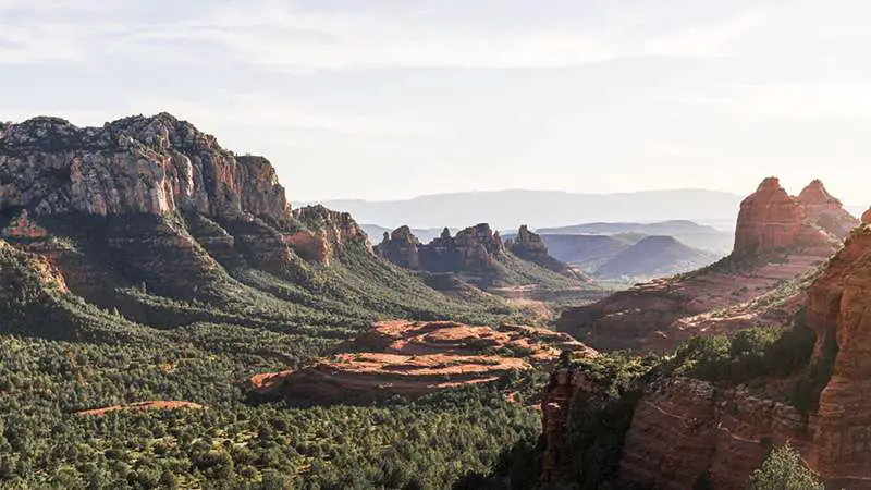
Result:
[[[351,244],[370,250],[346,213],[312,207],[292,216],[268,160],[237,157],[165,113],[99,128],[53,118],[5,125],[0,210],[17,216],[0,223],[3,236],[47,257],[74,293],[97,304],[142,284],[201,298],[228,280],[220,266],[296,280],[306,274],[297,252],[328,264]],[[77,236],[89,252],[56,234]]]

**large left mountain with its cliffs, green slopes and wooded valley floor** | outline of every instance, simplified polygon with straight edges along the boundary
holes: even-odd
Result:
[[[377,321],[533,317],[429,287],[349,215],[291,210],[265,158],[165,113],[2,126],[0,318],[2,488],[441,488],[451,462],[483,469],[536,432],[502,394],[533,371],[414,405],[253,401],[252,376]]]

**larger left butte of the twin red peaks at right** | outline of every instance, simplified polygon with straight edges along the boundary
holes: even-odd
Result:
[[[776,177],[768,177],[741,201],[732,253],[755,256],[794,246],[825,247],[827,235],[806,218],[805,207],[781,187]]]

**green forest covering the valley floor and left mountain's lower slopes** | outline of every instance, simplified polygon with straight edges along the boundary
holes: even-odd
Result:
[[[2,488],[450,488],[538,438],[538,413],[505,393],[532,403],[540,373],[365,406],[262,403],[245,382],[303,366],[379,319],[526,317],[492,296],[451,299],[353,244],[329,266],[293,259],[270,272],[237,248],[184,294],[156,268],[203,262],[199,244],[225,230],[218,223],[40,224],[52,237],[27,245],[58,250],[99,283],[68,278],[86,301],[53,283],[34,255],[0,242]],[[198,240],[182,253],[149,240],[112,246],[113,236],[161,233]],[[131,265],[143,257],[146,265]],[[205,408],[78,414],[151,400]]]

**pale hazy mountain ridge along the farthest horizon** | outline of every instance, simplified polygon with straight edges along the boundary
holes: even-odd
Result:
[[[692,220],[734,223],[743,196],[707,189],[581,194],[561,191],[492,191],[434,194],[390,201],[316,201],[351,212],[359,222],[382,226],[462,228],[487,221],[498,230],[524,223],[540,228],[597,221]],[[315,203],[303,203],[315,204]]]

